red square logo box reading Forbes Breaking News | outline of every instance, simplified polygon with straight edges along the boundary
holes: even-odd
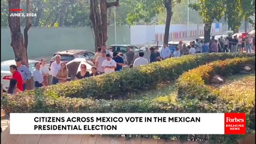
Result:
[[[225,113],[225,134],[245,134],[245,113]]]

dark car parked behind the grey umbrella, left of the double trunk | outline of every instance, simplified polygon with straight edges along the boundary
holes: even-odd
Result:
[[[61,61],[65,62],[65,63],[68,63],[69,61],[74,60],[75,58],[85,58],[89,62],[93,62],[94,55],[95,55],[94,52],[88,51],[88,50],[74,50],[74,49],[62,50],[62,51],[58,51],[58,52],[54,53],[54,55],[50,61],[50,66],[51,66],[52,62],[55,61],[55,55],[57,55],[57,54],[60,55]]]

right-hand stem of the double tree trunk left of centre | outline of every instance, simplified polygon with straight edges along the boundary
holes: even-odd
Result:
[[[108,17],[106,0],[100,0],[100,12],[102,22],[102,44],[106,44],[108,39]]]

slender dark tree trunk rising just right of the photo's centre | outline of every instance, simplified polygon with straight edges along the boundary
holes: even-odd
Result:
[[[169,31],[172,18],[172,1],[169,0],[164,4],[166,8],[166,21],[165,21],[165,30],[164,30],[164,44],[169,42]]]

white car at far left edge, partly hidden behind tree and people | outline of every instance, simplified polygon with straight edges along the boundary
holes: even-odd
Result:
[[[35,70],[35,63],[39,62],[36,60],[28,60],[29,70],[31,73]],[[3,84],[3,90],[6,92],[9,88],[10,79],[12,79],[12,74],[10,72],[10,66],[16,65],[15,60],[6,60],[1,62],[1,84]],[[47,65],[46,65],[47,66]],[[47,66],[50,70],[50,67]]]

